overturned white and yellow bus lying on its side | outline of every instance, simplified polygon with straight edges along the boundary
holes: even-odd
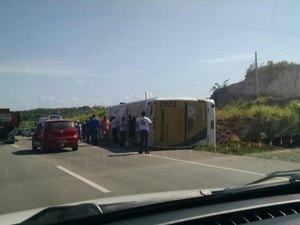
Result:
[[[108,107],[110,117],[121,121],[146,116],[152,120],[149,146],[188,147],[197,143],[216,145],[215,103],[210,99],[152,98]]]

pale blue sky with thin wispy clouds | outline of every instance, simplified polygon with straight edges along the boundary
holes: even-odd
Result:
[[[300,63],[300,1],[0,1],[0,108],[207,98],[258,63]]]

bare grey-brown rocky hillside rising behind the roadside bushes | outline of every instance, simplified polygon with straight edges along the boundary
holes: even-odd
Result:
[[[251,100],[258,96],[278,100],[300,97],[300,66],[265,66],[258,70],[257,76],[252,71],[244,81],[215,90],[211,98],[217,106],[222,106],[233,100]]]

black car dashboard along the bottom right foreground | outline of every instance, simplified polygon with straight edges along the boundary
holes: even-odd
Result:
[[[55,224],[299,225],[300,182],[223,189],[201,197],[150,204],[132,201],[94,206],[85,210],[99,208],[97,215]],[[27,222],[24,224],[36,224]]]

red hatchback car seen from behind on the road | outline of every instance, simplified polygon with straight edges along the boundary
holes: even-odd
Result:
[[[41,151],[71,147],[78,150],[78,135],[69,120],[45,120],[41,122],[32,136],[32,150]]]

